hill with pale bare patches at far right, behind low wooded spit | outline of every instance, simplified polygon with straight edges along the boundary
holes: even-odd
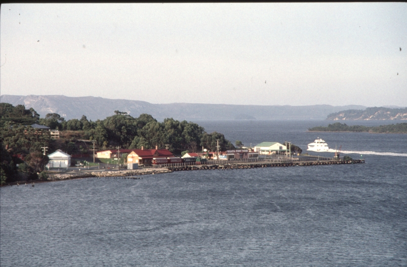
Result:
[[[407,120],[407,108],[368,107],[365,110],[348,109],[331,113],[326,120]]]

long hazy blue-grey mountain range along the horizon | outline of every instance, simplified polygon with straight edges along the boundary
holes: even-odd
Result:
[[[324,120],[333,112],[344,109],[364,109],[365,106],[347,105],[311,105],[311,106],[260,106],[260,105],[226,105],[226,104],[151,104],[145,101],[107,99],[84,96],[68,97],[64,95],[1,95],[0,102],[12,105],[25,105],[34,108],[44,118],[48,113],[58,113],[66,120],[105,119],[114,115],[115,110],[127,112],[132,117],[142,113],[152,115],[157,120],[173,118],[175,120],[235,120],[235,119],[270,119],[270,120]]]

